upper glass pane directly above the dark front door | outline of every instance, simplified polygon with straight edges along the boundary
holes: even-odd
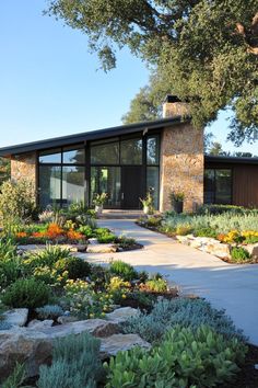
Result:
[[[142,139],[121,141],[121,164],[142,164]]]

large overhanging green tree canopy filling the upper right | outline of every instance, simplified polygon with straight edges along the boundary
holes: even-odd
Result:
[[[128,46],[189,101],[196,127],[230,106],[231,139],[258,138],[258,0],[52,0],[48,12],[87,35],[105,70]]]

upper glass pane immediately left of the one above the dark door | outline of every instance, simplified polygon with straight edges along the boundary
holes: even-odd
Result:
[[[118,164],[119,142],[108,142],[105,145],[91,147],[92,164]]]

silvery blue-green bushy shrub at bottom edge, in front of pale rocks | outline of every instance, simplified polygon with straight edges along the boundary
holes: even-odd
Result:
[[[39,368],[38,388],[96,388],[104,376],[101,341],[87,333],[56,340],[51,366]]]

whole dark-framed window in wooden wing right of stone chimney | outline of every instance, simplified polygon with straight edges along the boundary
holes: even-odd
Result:
[[[232,202],[232,170],[206,169],[204,171],[204,203],[231,204]]]

